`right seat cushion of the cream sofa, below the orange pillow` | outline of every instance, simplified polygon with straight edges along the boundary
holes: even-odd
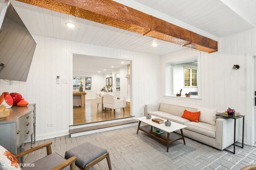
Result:
[[[204,123],[204,122],[194,122],[194,121],[190,121],[190,122],[185,122],[184,125],[186,125],[186,129],[190,130],[190,131],[194,131],[197,133],[201,133],[203,135],[209,136],[209,137],[213,137],[216,138],[216,126],[215,125],[210,125],[208,123]]]

